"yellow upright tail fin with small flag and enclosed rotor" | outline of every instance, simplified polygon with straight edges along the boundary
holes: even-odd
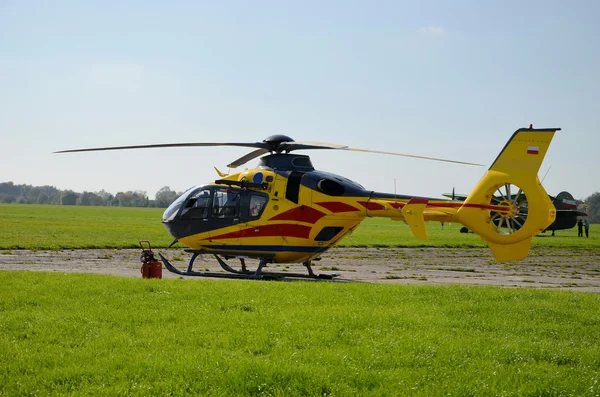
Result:
[[[488,243],[498,261],[527,257],[533,236],[556,217],[537,175],[558,130],[517,130],[458,210],[459,221]]]

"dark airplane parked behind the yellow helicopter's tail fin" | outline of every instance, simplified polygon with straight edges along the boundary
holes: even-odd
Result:
[[[467,199],[466,194],[455,194],[454,189],[452,189],[452,193],[444,193],[444,197],[451,198],[456,201],[464,201]],[[512,195],[513,199],[515,195]],[[526,201],[525,195],[521,195],[522,201]],[[572,229],[577,225],[577,217],[587,216],[587,214],[583,211],[579,211],[577,209],[577,202],[569,192],[560,192],[556,195],[556,197],[548,195],[552,204],[556,208],[556,219],[550,226],[548,226],[543,232],[550,230],[552,235],[554,236],[554,232],[556,230],[566,230]],[[492,202],[500,203],[502,201],[502,196],[494,196]],[[521,200],[519,200],[521,201]],[[523,206],[521,211],[525,214],[527,212],[527,206]],[[517,225],[518,227],[518,225]],[[467,233],[469,229],[466,227],[461,228],[461,233]]]

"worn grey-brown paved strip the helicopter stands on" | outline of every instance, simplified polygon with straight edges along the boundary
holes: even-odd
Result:
[[[183,249],[156,250],[186,269]],[[0,250],[0,270],[77,272],[141,277],[140,250]],[[239,268],[239,262],[229,264]],[[255,261],[248,261],[254,268]],[[468,284],[504,287],[568,288],[600,292],[600,250],[534,249],[523,261],[496,262],[484,248],[334,248],[313,263],[316,273],[339,279],[394,284]],[[199,257],[195,270],[222,272],[211,255]],[[269,265],[265,271],[304,273],[301,264]],[[163,269],[163,278],[180,277]],[[185,277],[194,279],[194,277]]]

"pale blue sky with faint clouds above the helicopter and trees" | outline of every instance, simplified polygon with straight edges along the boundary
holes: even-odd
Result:
[[[153,198],[246,150],[52,152],[272,134],[489,165],[533,123],[562,128],[548,192],[584,198],[600,190],[599,16],[597,0],[0,0],[0,182]],[[468,193],[485,172],[305,154],[402,194]]]

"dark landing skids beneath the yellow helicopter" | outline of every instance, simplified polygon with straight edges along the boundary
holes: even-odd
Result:
[[[339,274],[315,274],[313,272],[311,262],[304,262],[303,265],[308,270],[308,274],[304,273],[288,273],[288,272],[265,272],[263,269],[270,263],[272,257],[260,258],[260,262],[256,270],[248,270],[246,268],[246,262],[244,258],[239,258],[241,263],[241,270],[234,269],[229,266],[227,262],[225,262],[218,254],[213,254],[217,259],[219,266],[227,273],[217,273],[217,272],[199,272],[193,270],[194,261],[201,254],[207,254],[206,251],[195,251],[195,250],[185,250],[186,252],[190,252],[192,257],[190,258],[190,262],[188,263],[187,270],[181,271],[174,267],[162,254],[158,254],[162,263],[165,265],[168,271],[171,273],[179,274],[181,276],[195,276],[195,277],[214,277],[214,278],[229,278],[229,279],[242,279],[242,280],[297,280],[297,279],[307,279],[307,280],[333,280],[335,277],[338,277]]]

